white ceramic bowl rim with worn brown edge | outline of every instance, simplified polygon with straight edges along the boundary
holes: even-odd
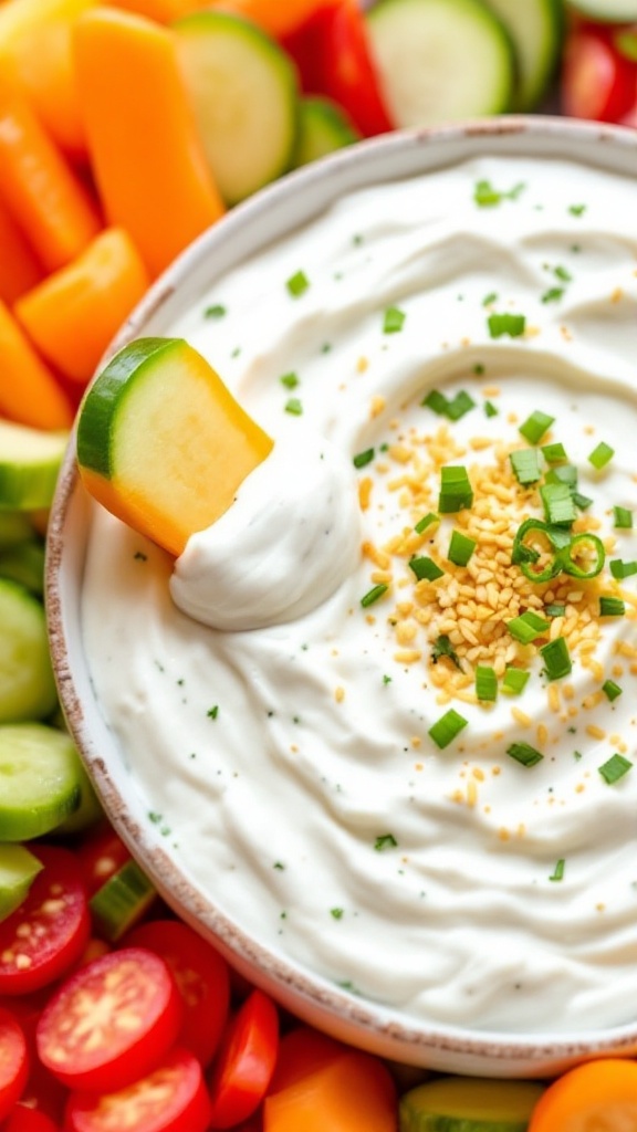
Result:
[[[592,163],[628,173],[637,186],[637,131],[550,118],[509,118],[388,135],[294,173],[236,208],[159,280],[110,352],[139,335],[167,333],[179,315],[201,301],[215,277],[317,215],[342,194],[486,152]],[[71,448],[52,512],[46,584],[61,703],[107,813],[179,915],[216,943],[243,975],[303,1019],[397,1061],[510,1078],[553,1074],[591,1056],[637,1053],[637,1007],[635,1022],[629,1026],[559,1036],[476,1034],[461,1027],[419,1024],[314,978],[312,972],[272,954],[258,938],[249,937],[230,921],[214,900],[184,875],[165,839],[144,820],[145,806],[100,714],[79,620],[87,516],[88,500],[78,482]]]

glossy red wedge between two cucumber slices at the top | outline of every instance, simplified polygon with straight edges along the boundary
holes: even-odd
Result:
[[[338,102],[365,137],[393,129],[357,0],[332,0],[283,43],[304,91]]]

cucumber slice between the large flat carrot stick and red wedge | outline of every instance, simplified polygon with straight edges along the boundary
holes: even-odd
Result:
[[[286,173],[298,132],[298,84],[288,54],[240,16],[201,11],[173,25],[204,152],[229,205]]]

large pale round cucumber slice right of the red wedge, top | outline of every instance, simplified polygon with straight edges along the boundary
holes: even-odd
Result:
[[[397,126],[434,126],[509,109],[513,49],[481,0],[380,0],[366,26]]]

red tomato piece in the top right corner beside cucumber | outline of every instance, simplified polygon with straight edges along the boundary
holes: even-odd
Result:
[[[637,65],[617,50],[612,33],[583,24],[569,36],[561,75],[561,109],[572,118],[620,122],[637,103]]]

